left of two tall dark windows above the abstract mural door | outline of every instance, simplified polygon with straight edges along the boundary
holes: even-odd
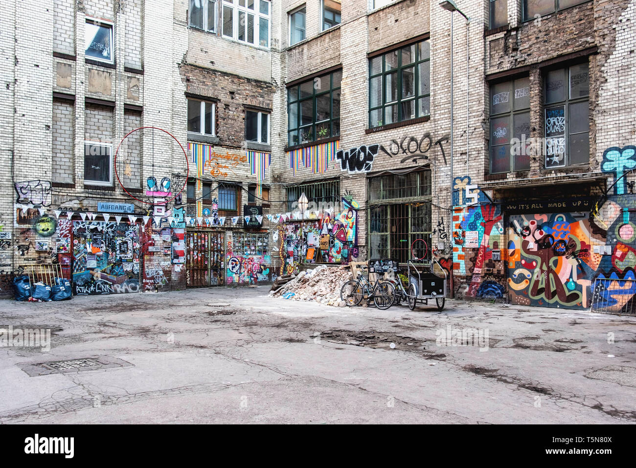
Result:
[[[530,169],[530,78],[490,85],[490,173]]]

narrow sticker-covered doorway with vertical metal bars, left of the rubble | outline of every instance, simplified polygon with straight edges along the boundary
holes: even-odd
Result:
[[[225,232],[186,233],[186,286],[204,288],[225,285]]]

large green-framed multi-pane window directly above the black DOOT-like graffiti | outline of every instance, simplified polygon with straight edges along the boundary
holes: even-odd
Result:
[[[369,60],[369,127],[431,115],[429,41]]]

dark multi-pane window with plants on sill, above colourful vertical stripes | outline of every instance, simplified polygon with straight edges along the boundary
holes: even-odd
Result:
[[[341,81],[338,70],[287,89],[287,145],[340,135]]]

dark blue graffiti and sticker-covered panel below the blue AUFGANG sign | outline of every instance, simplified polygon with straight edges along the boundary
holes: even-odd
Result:
[[[73,222],[73,294],[139,292],[139,226]]]

